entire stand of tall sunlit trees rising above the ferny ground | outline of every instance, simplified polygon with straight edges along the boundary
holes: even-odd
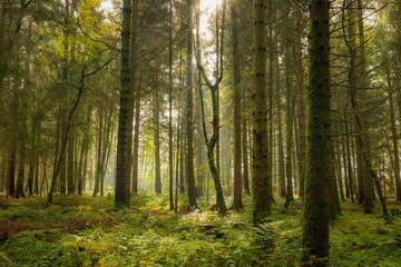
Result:
[[[401,2],[202,2],[1,0],[0,192],[285,198],[325,266],[341,200],[401,201]]]

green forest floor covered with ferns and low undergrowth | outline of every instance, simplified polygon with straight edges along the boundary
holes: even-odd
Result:
[[[251,198],[244,202],[245,211],[221,217],[176,215],[167,197],[150,195],[133,197],[125,210],[114,209],[113,197],[56,196],[50,207],[0,197],[0,266],[299,266],[300,205],[284,209],[278,199],[270,222],[252,227]],[[342,206],[331,225],[331,266],[401,266],[400,204],[389,204],[392,224],[379,205],[371,215]]]

